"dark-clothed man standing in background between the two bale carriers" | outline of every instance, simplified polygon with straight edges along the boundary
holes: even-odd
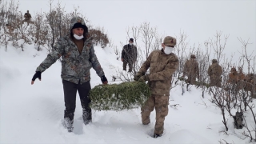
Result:
[[[133,65],[137,60],[138,51],[137,47],[134,46],[134,38],[130,38],[129,44],[123,46],[121,60],[123,62],[122,68],[126,70],[127,64],[129,65],[129,71],[133,69]]]

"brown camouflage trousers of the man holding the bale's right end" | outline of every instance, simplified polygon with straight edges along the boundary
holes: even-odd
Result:
[[[169,96],[151,95],[142,106],[142,123],[147,125],[150,123],[150,113],[156,111],[156,122],[154,126],[154,134],[162,134],[165,117],[168,114]]]

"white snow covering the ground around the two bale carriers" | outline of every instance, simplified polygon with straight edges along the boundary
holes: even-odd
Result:
[[[155,112],[150,115],[149,126],[142,126],[140,110],[122,112],[94,111],[93,122],[82,123],[82,108],[77,97],[74,115],[74,132],[68,133],[62,127],[64,98],[62,90],[61,62],[54,63],[42,73],[31,86],[36,67],[46,58],[46,50],[38,52],[32,45],[25,51],[8,46],[7,52],[0,47],[0,143],[249,143],[242,140],[243,130],[234,130],[233,118],[228,118],[229,131],[220,133],[225,127],[222,114],[214,107],[202,91],[191,87],[182,95],[182,87],[170,91],[169,114],[161,138],[151,138],[154,132]],[[116,70],[122,69],[122,62],[116,59],[114,50],[94,47],[109,82]],[[91,70],[91,86],[101,83]],[[205,104],[204,104],[205,103]],[[256,111],[254,109],[254,111]],[[250,113],[246,121],[253,123]]]

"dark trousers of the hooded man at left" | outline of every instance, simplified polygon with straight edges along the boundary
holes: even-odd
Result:
[[[74,110],[75,110],[75,102],[76,102],[76,94],[80,96],[80,101],[82,105],[83,113],[90,114],[91,119],[91,109],[90,109],[90,81],[84,82],[81,84],[75,84],[73,82],[62,80],[63,90],[64,90],[64,98],[65,98],[65,107],[64,118],[70,118],[71,121],[74,119]]]

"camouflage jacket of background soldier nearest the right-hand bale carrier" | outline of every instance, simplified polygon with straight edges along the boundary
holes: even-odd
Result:
[[[192,75],[194,74],[195,76],[199,77],[199,66],[198,62],[195,60],[186,60],[186,63],[184,65],[184,70],[183,70],[184,75]]]

